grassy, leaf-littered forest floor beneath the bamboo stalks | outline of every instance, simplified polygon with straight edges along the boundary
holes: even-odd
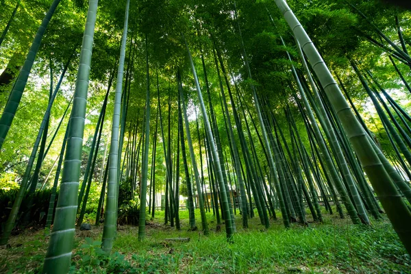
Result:
[[[199,216],[196,212],[196,216]],[[188,212],[180,212],[182,229],[164,225],[164,212],[148,221],[146,238],[138,227],[119,226],[110,257],[101,255],[103,225],[76,231],[71,273],[411,273],[411,259],[388,219],[372,227],[324,214],[323,223],[285,229],[281,219],[264,229],[258,216],[242,229],[236,215],[234,242],[225,240],[224,225],[208,213],[210,235],[188,232]],[[197,225],[201,226],[200,219]],[[166,238],[190,238],[169,242]],[[0,250],[0,273],[38,273],[48,244],[44,229],[27,229]]]

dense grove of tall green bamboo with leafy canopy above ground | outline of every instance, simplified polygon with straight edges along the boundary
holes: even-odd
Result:
[[[385,214],[411,253],[410,12],[371,0],[44,2],[1,2],[0,158],[21,174],[1,245],[32,221],[22,203],[50,188],[43,272],[66,273],[98,186],[106,253],[123,201],[138,203],[140,241],[158,210],[230,242],[238,214],[268,229],[321,223],[325,208],[364,229]]]

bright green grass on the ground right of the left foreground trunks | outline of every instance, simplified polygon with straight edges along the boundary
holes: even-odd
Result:
[[[121,234],[114,249],[138,253],[134,267],[144,273],[154,267],[160,273],[175,269],[183,273],[284,273],[288,269],[384,273],[406,271],[411,265],[410,256],[387,220],[374,223],[373,229],[328,216],[323,225],[308,228],[284,229],[277,221],[266,232],[240,229],[231,244],[223,240],[223,234],[214,233],[202,238],[184,231],[156,231],[144,244],[134,242],[135,237],[132,231]],[[164,242],[164,238],[173,237],[191,240]]]

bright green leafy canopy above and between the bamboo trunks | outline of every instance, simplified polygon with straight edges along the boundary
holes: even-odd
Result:
[[[321,54],[327,64],[332,65],[333,69],[342,75],[343,82],[347,84],[350,95],[353,95],[353,100],[358,105],[364,104],[366,95],[362,88],[360,88],[358,80],[353,77],[352,71],[347,66],[346,54],[358,57],[363,62],[365,68],[373,69],[373,73],[377,78],[381,78],[384,86],[403,89],[398,81],[398,76],[390,65],[386,53],[382,49],[371,45],[370,42],[357,32],[360,29],[362,32],[378,40],[373,28],[359,16],[358,12],[349,8],[349,5],[344,3],[344,1],[315,0],[306,2],[290,0],[288,2],[290,7],[295,10],[303,26],[306,27],[310,37],[321,50]],[[49,66],[53,67],[54,82],[56,82],[56,78],[62,70],[62,65],[69,58],[69,55],[73,53],[75,45],[81,42],[79,38],[82,36],[87,11],[85,3],[83,0],[67,1],[64,4],[64,8],[58,8],[53,15],[40,47],[38,58],[36,58],[36,64],[34,64],[32,74],[36,75],[36,77],[29,79],[29,84],[21,101],[21,105],[24,105],[24,110],[17,113],[13,123],[13,127],[16,130],[10,130],[8,136],[9,140],[13,140],[13,142],[5,142],[4,151],[0,155],[0,162],[3,163],[4,169],[11,168],[10,170],[18,173],[18,175],[22,175],[24,172],[25,157],[29,155],[29,151],[32,149],[33,139],[38,129],[38,121],[40,121],[45,105],[47,105],[46,95],[49,88]],[[395,10],[375,0],[353,0],[350,3],[356,5],[377,27],[382,29],[384,34],[395,42],[398,40],[394,21],[394,16],[397,14],[403,36],[406,40],[410,40],[411,29],[409,25],[411,16],[409,12]],[[236,5],[246,51],[251,64],[251,71],[254,75],[252,82],[255,86],[258,86],[258,92],[269,97],[275,112],[279,112],[277,108],[284,105],[284,103],[294,104],[290,99],[290,90],[284,88],[291,78],[290,73],[288,73],[289,62],[285,59],[285,48],[280,45],[279,35],[282,35],[286,41],[286,49],[293,56],[296,56],[294,41],[285,27],[284,21],[280,19],[281,16],[277,16],[279,14],[272,1],[257,1],[255,3],[253,1],[238,0]],[[5,1],[4,5],[2,5],[5,16],[0,18],[1,25],[7,23],[14,6],[15,1]],[[23,64],[29,44],[48,6],[49,1],[21,1],[21,8],[19,8],[0,49],[0,69],[7,67],[13,69],[14,72],[18,71],[16,68]],[[98,116],[98,110],[101,107],[101,99],[109,72],[114,66],[116,56],[119,54],[119,39],[123,25],[124,7],[125,1],[120,1],[119,5],[112,5],[110,1],[103,0],[99,3],[99,18],[95,34],[95,47],[93,49],[90,74],[90,95],[87,106],[89,111],[87,119],[90,123],[86,123],[84,134],[84,140],[87,140],[84,145],[84,158],[88,155],[90,135],[92,135],[91,133],[94,130],[93,127]],[[266,8],[272,14],[275,25],[270,22]],[[245,67],[242,58],[240,58],[241,50],[238,44],[238,33],[233,28],[235,23],[234,18],[232,18],[233,9],[232,2],[210,3],[199,1],[195,5],[187,1],[164,2],[160,0],[132,3],[130,10],[130,14],[133,15],[130,16],[129,33],[130,36],[135,37],[134,40],[137,45],[140,45],[142,37],[147,32],[149,62],[155,64],[155,66],[151,66],[151,78],[153,78],[154,67],[158,68],[160,101],[163,105],[170,94],[172,97],[172,108],[175,106],[175,84],[173,83],[175,79],[173,79],[173,75],[175,75],[177,64],[183,71],[184,84],[192,86],[192,77],[188,73],[188,66],[185,60],[186,53],[182,47],[180,31],[186,32],[188,43],[190,46],[192,45],[192,54],[196,67],[201,67],[198,58],[199,49],[203,51],[212,89],[212,101],[217,106],[215,112],[219,129],[222,131],[224,131],[224,127],[222,112],[219,108],[219,92],[216,92],[219,84],[214,60],[212,60],[213,42],[216,42],[216,47],[223,51],[223,58],[227,62],[227,68],[235,75],[238,86],[245,90],[245,100],[251,102],[249,106],[251,107],[251,114],[254,114],[252,101],[249,100],[249,92],[247,92],[248,84],[251,81],[245,77]],[[136,60],[144,58],[145,51],[143,48],[136,46],[136,49],[134,49]],[[132,47],[127,47],[126,59],[130,49]],[[55,124],[60,120],[62,110],[64,110],[73,94],[75,70],[78,67],[78,55],[79,49],[77,48],[73,64],[71,64],[62,85],[64,86],[62,95],[58,95],[53,105],[51,129],[55,129]],[[50,58],[51,64],[49,62]],[[126,60],[126,62],[129,61]],[[127,123],[129,123],[130,118],[138,120],[138,123],[141,122],[142,115],[136,116],[136,114],[141,114],[145,104],[144,97],[142,96],[142,93],[145,92],[145,85],[142,84],[145,71],[144,66],[141,66],[140,62],[135,62],[135,64],[137,63],[139,65],[134,65],[134,70],[131,71],[134,80],[130,89]],[[295,65],[298,67],[298,64]],[[409,76],[409,69],[405,64],[399,64],[399,68],[406,77]],[[201,69],[198,73],[200,82],[203,82]],[[154,81],[151,80],[152,85],[153,83]],[[204,83],[201,84],[204,86]],[[6,87],[1,86],[1,89],[5,92],[0,92],[0,106],[4,105],[5,101],[7,101],[8,92],[11,88],[11,84]],[[193,96],[195,92],[192,92],[190,88],[187,90],[189,91],[187,92],[188,97],[193,100],[193,103],[197,103],[197,99]],[[397,91],[393,90],[393,92]],[[401,97],[406,97],[406,95],[402,94]],[[166,117],[168,110],[166,108],[163,108],[163,110],[164,117]],[[293,107],[292,111],[298,112],[297,108]],[[362,111],[362,114],[366,114],[366,111],[367,109]],[[111,112],[112,108],[108,108],[106,116],[111,117]],[[151,121],[153,121],[153,115],[155,115],[155,111],[151,113]],[[372,113],[369,117],[370,119],[367,119],[366,123],[372,126],[371,118],[377,116],[375,113]],[[106,125],[103,129],[105,136],[110,136],[108,134],[110,130],[109,122],[105,123]],[[175,113],[172,114],[172,123],[173,134],[175,134]],[[279,119],[279,123],[284,123],[283,118]],[[297,127],[300,127],[302,121],[297,121],[297,123],[299,124]],[[65,125],[66,123],[63,123],[62,128]],[[167,125],[164,126],[167,127]],[[202,127],[201,124],[200,127]],[[127,125],[126,130],[128,128],[129,126]],[[151,132],[153,130],[152,127]],[[43,163],[40,181],[42,177],[45,177],[45,174],[47,175],[53,160],[58,155],[58,147],[61,145],[63,134],[64,130],[60,130],[55,139],[55,144],[51,147],[51,151]],[[301,138],[306,142],[306,134],[303,134]],[[104,139],[101,147],[105,145]],[[227,134],[221,134],[221,140],[225,149],[227,149]],[[197,152],[198,145],[196,141],[193,146]],[[161,148],[161,146],[158,147]],[[260,147],[256,149],[258,154],[263,156]],[[389,145],[385,146],[384,150],[392,153]],[[99,149],[96,172],[93,173],[95,180],[97,180],[101,173],[102,154],[103,149]],[[158,163],[164,162],[162,149],[158,150],[157,158]],[[83,159],[82,172],[84,171],[85,161],[86,159]],[[165,173],[163,171],[164,165],[158,164],[156,169],[158,182],[155,187],[156,190],[164,187]]]

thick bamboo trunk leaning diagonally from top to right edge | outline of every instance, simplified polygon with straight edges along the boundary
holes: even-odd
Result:
[[[375,192],[377,192],[377,196],[382,202],[388,218],[391,223],[393,223],[393,227],[408,253],[411,253],[410,210],[401,197],[399,197],[397,188],[395,188],[390,176],[386,172],[386,169],[384,169],[382,162],[379,160],[377,153],[375,153],[372,145],[367,139],[364,129],[362,129],[360,123],[351,112],[340,88],[338,88],[334,78],[331,73],[329,73],[325,62],[306,34],[306,31],[292,13],[286,1],[275,0],[275,3],[286,18],[286,21],[297,40],[299,40],[301,48],[307,54],[308,60],[310,60],[316,75],[319,77],[321,85],[325,89],[329,101],[336,110],[340,123],[342,123],[351,145],[353,145],[354,150],[358,154],[358,158],[364,171],[368,175]]]

